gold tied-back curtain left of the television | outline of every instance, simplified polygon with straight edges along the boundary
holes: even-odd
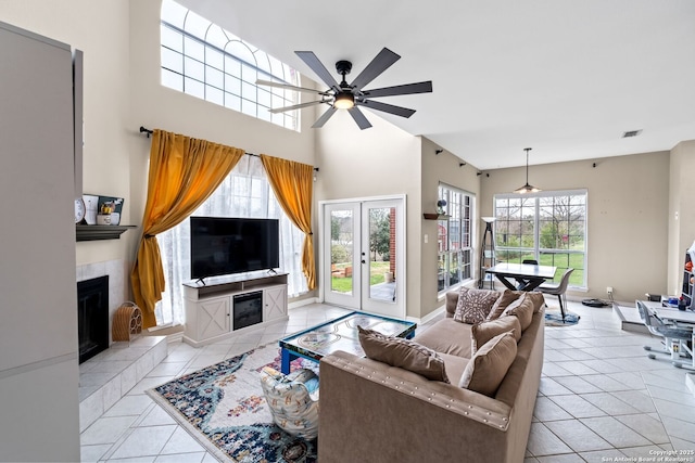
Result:
[[[156,325],[154,305],[162,299],[164,271],[156,235],[190,216],[229,175],[244,151],[154,130],[150,149],[148,198],[142,239],[130,272],[143,327]]]

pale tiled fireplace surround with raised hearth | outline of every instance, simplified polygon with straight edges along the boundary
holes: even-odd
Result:
[[[129,269],[122,260],[77,266],[76,282],[109,275],[109,349],[79,365],[79,429],[85,430],[167,355],[165,336],[113,343],[113,317],[129,300]],[[77,308],[76,308],[77,309]]]

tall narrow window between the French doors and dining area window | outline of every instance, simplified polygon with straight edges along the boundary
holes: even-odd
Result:
[[[447,216],[437,222],[438,291],[444,292],[472,278],[473,196],[440,184],[439,198],[446,202],[444,216]]]

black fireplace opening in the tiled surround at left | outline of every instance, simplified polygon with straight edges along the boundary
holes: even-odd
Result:
[[[79,363],[109,348],[109,275],[77,282]]]

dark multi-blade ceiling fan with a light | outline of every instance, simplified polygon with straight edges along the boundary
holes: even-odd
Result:
[[[399,94],[412,94],[412,93],[429,93],[432,91],[432,81],[427,80],[424,82],[405,83],[401,86],[383,87],[374,90],[364,90],[364,87],[377,78],[381,73],[388,69],[393,63],[401,59],[388,48],[384,48],[371,60],[371,62],[365,67],[362,73],[352,81],[348,83],[345,76],[352,70],[352,63],[350,61],[341,60],[336,63],[336,69],[338,74],[342,76],[340,83],[333,78],[333,76],[326,69],[326,67],[318,61],[318,57],[312,51],[295,51],[296,55],[304,62],[314,73],[328,86],[328,90],[314,90],[304,87],[295,87],[289,83],[273,82],[269,80],[256,80],[257,85],[278,87],[289,90],[295,90],[307,93],[315,93],[321,97],[320,100],[309,101],[306,103],[294,104],[292,106],[278,107],[270,110],[270,113],[283,113],[286,111],[298,110],[301,107],[314,106],[317,104],[328,104],[330,107],[319,117],[312,126],[313,128],[323,127],[328,119],[338,110],[348,110],[352,118],[357,126],[364,130],[371,127],[369,120],[365,117],[364,113],[359,111],[359,106],[368,107],[370,110],[382,111],[389,114],[395,114],[401,117],[410,117],[415,110],[407,107],[395,106],[392,104],[381,103],[379,101],[371,100],[372,98],[393,97]]]

